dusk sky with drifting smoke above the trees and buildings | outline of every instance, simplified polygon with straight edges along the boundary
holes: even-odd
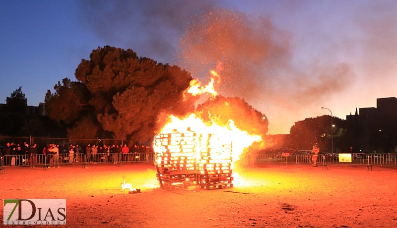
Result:
[[[106,45],[176,64],[244,98],[268,134],[397,96],[396,0],[0,1],[0,103],[28,105]]]

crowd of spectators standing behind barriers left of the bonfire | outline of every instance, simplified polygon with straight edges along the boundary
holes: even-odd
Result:
[[[43,156],[44,155],[44,156]],[[107,146],[87,144],[81,149],[78,144],[69,144],[60,148],[59,144],[48,144],[43,149],[37,149],[37,144],[29,145],[24,142],[15,144],[6,143],[0,151],[3,166],[29,166],[34,168],[37,164],[48,164],[48,168],[59,168],[60,163],[86,162],[150,162],[153,161],[153,151],[148,145],[134,145],[132,149],[127,144]],[[85,160],[84,160],[85,159]]]

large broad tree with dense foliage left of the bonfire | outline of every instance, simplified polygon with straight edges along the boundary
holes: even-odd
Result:
[[[101,136],[108,131],[117,139],[145,141],[159,127],[159,114],[194,109],[193,101],[180,102],[192,80],[190,73],[137,57],[130,49],[93,50],[89,60],[81,60],[75,76],[78,82],[64,79],[54,87],[54,94],[46,95],[46,112],[71,125],[69,137]]]

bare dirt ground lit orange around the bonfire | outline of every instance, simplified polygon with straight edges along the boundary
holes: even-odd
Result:
[[[175,191],[159,188],[150,164],[88,168],[7,168],[1,199],[66,198],[64,227],[73,228],[397,227],[393,167],[266,164],[234,171],[233,188]],[[124,179],[141,193],[122,191]]]

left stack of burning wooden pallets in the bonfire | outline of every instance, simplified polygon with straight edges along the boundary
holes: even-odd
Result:
[[[169,133],[155,137],[155,165],[162,188],[173,190],[197,184],[196,133]]]

